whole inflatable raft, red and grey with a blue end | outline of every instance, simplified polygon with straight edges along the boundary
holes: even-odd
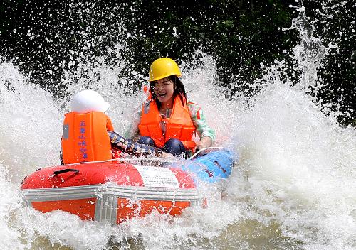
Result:
[[[202,206],[197,185],[229,177],[233,161],[229,151],[216,151],[165,165],[120,159],[42,168],[24,178],[23,201],[41,212],[62,210],[112,224],[152,210],[178,215]]]

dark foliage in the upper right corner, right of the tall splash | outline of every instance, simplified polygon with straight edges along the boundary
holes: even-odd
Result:
[[[342,124],[354,124],[356,117],[356,18],[353,1],[311,1],[306,5],[307,15],[313,16],[315,36],[324,45],[336,45],[320,69],[320,78],[328,83],[318,93],[324,103],[340,105]],[[310,11],[318,10],[318,11]]]

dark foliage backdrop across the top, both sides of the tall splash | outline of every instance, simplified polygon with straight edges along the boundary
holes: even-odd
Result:
[[[320,20],[317,35],[324,44],[339,46],[330,50],[325,61],[320,77],[329,85],[318,98],[340,103],[342,112],[349,112],[340,116],[345,123],[355,118],[351,2],[304,3],[307,16]],[[194,67],[199,63],[196,51],[202,50],[214,58],[218,82],[231,97],[238,89],[249,92],[248,83],[261,77],[261,63],[270,65],[284,58],[290,62],[291,50],[299,43],[298,32],[283,28],[289,28],[298,14],[290,8],[296,4],[288,0],[5,0],[0,4],[0,53],[13,58],[34,82],[60,96],[66,94],[64,72],[75,81],[78,74],[88,74],[84,64],[116,65],[125,60],[120,79],[145,82],[153,60],[167,56]],[[123,45],[120,51],[116,44]]]

